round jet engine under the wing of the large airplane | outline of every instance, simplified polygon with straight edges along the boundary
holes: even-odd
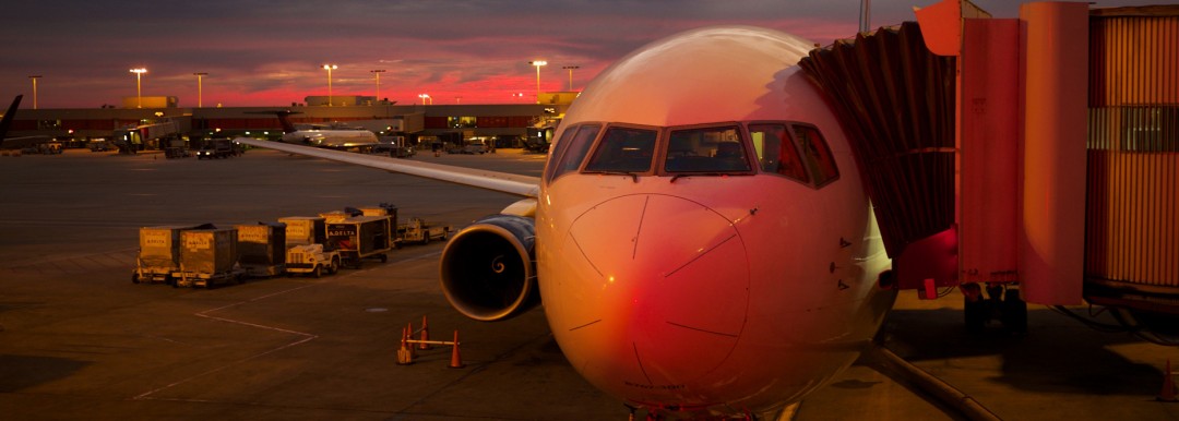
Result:
[[[493,215],[459,231],[442,250],[442,292],[467,317],[495,322],[540,303],[532,218]]]

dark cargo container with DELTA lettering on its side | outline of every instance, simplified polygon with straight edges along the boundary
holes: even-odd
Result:
[[[328,223],[328,245],[340,250],[344,264],[361,267],[361,259],[387,262],[393,249],[391,219],[387,216],[356,216]]]

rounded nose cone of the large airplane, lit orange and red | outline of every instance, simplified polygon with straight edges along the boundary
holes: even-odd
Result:
[[[658,393],[725,361],[750,294],[749,257],[729,218],[686,198],[632,195],[582,213],[568,239],[592,267],[579,288],[585,323],[571,331],[586,344],[582,368],[627,373],[625,387]]]

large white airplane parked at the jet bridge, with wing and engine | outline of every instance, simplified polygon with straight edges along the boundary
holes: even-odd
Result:
[[[652,414],[772,417],[895,300],[848,140],[796,66],[812,46],[746,26],[650,44],[585,88],[540,178],[239,142],[525,197],[447,244],[455,309],[544,302],[569,363]]]

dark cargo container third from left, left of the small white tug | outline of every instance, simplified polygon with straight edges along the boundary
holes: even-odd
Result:
[[[238,268],[248,276],[266,277],[282,274],[286,263],[286,224],[257,223],[235,225],[237,229]]]

